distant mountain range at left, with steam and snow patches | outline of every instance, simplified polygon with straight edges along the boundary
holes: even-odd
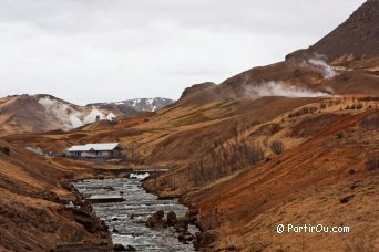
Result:
[[[166,98],[79,106],[51,95],[14,95],[0,98],[0,133],[69,130],[96,120],[135,116],[171,104]]]

